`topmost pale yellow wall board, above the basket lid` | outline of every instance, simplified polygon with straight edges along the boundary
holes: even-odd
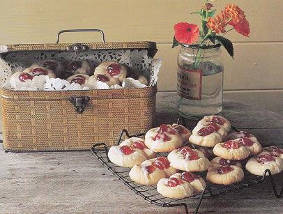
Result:
[[[171,43],[176,22],[199,23],[198,15],[204,1],[199,0],[1,0],[1,43],[54,43],[61,29],[99,28],[108,41],[153,40]],[[230,33],[234,41],[282,41],[280,31],[283,5],[281,0],[234,0],[245,10],[252,33],[244,38]],[[218,12],[229,1],[215,1]],[[66,34],[63,40],[100,40],[93,33]]]

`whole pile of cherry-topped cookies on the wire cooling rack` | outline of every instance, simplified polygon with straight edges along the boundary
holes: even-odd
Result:
[[[283,149],[263,148],[254,135],[240,131],[228,135],[231,123],[222,116],[205,116],[192,130],[182,125],[165,125],[146,132],[145,139],[132,137],[109,149],[109,159],[121,167],[131,167],[132,181],[155,185],[165,197],[183,199],[201,192],[206,182],[193,174],[208,170],[206,180],[220,185],[244,178],[242,160],[252,174],[272,174],[283,170]],[[188,142],[194,144],[193,148]],[[197,149],[194,149],[197,148]],[[167,158],[157,153],[169,153]],[[208,160],[212,157],[215,157]],[[251,158],[252,157],[252,158]],[[181,171],[179,173],[178,171]]]

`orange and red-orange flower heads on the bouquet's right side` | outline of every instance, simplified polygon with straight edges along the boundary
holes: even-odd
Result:
[[[227,5],[215,18],[208,18],[206,26],[215,33],[224,33],[227,24],[234,26],[235,30],[243,36],[250,34],[250,24],[245,18],[244,11],[234,4]]]

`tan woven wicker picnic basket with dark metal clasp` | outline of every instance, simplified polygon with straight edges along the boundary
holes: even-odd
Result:
[[[146,49],[152,57],[157,51],[152,42],[2,45],[0,49],[5,60],[7,53],[52,51],[56,55],[74,49],[82,52],[82,47],[88,51]],[[89,150],[95,142],[113,145],[124,128],[134,134],[153,126],[156,92],[156,86],[90,91],[1,89],[3,148],[62,151]]]

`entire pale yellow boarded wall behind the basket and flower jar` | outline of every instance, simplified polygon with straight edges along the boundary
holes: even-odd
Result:
[[[214,1],[218,11],[231,1]],[[250,38],[229,33],[234,61],[224,53],[224,97],[283,114],[283,1],[234,0],[250,21]],[[61,29],[98,28],[107,41],[152,40],[164,63],[160,91],[176,90],[171,49],[176,22],[199,23],[200,0],[0,0],[0,43],[54,43]],[[100,41],[97,33],[67,33],[62,42]],[[168,81],[170,79],[170,81]]]

